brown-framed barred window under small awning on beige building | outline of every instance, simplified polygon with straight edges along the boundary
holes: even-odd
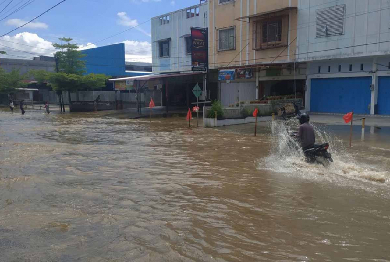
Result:
[[[253,23],[254,49],[287,46],[288,17],[260,20]]]

